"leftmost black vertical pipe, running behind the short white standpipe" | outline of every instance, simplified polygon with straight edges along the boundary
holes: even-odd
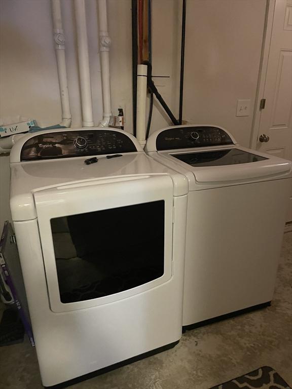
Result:
[[[133,89],[133,134],[137,128],[137,65],[138,65],[138,23],[137,0],[132,0],[132,89]]]

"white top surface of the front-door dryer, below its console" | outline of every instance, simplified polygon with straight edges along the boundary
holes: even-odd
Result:
[[[143,151],[122,154],[122,157],[107,159],[98,155],[97,163],[85,164],[88,157],[42,160],[12,163],[10,205],[13,220],[29,220],[36,217],[33,193],[56,186],[92,183],[112,177],[149,176],[166,174],[173,182],[173,195],[188,193],[188,180],[184,175],[171,170]]]

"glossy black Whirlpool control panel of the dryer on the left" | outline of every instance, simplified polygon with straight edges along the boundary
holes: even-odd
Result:
[[[134,152],[133,141],[118,131],[79,130],[36,133],[22,146],[20,161]]]

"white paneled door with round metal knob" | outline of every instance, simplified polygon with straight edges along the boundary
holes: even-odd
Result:
[[[292,0],[276,0],[257,149],[292,160]],[[271,10],[271,8],[270,8]],[[287,221],[292,220],[291,201]]]

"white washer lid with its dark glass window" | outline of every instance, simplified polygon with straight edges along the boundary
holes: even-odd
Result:
[[[291,176],[290,161],[240,146],[192,149],[192,152],[171,150],[157,154],[169,167],[176,165],[178,172],[187,175],[190,190],[200,189],[200,184],[215,187]],[[162,162],[162,159],[158,160]]]

